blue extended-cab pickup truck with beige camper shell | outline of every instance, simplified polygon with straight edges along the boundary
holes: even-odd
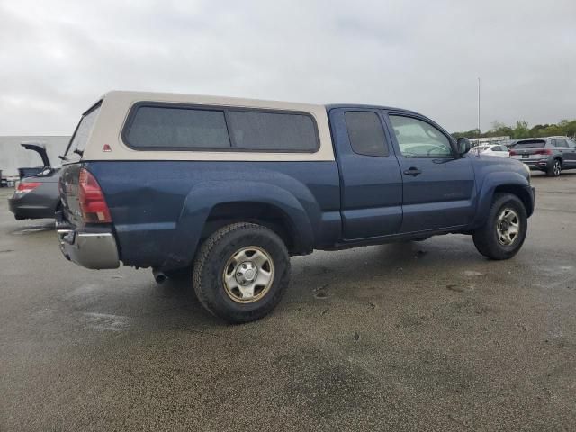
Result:
[[[315,249],[472,235],[513,257],[534,211],[516,160],[469,153],[417,112],[111,92],[67,148],[62,253],[93,269],[189,277],[202,305],[257,320]]]

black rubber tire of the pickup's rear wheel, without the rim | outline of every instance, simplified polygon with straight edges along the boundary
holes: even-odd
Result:
[[[266,293],[257,300],[242,302],[225,285],[224,274],[238,251],[257,247],[270,258],[270,281]],[[270,268],[268,268],[270,270]],[[233,270],[236,274],[237,270]],[[280,302],[290,281],[290,256],[284,242],[274,231],[261,225],[239,222],[213,233],[200,247],[193,264],[193,287],[206,310],[230,323],[258,320]],[[242,295],[241,293],[239,295]],[[236,299],[236,300],[235,300]]]

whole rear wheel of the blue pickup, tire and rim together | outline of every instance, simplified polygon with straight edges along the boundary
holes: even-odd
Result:
[[[219,229],[193,265],[198,300],[232,323],[258,320],[280,302],[290,280],[290,256],[274,231],[254,223]]]

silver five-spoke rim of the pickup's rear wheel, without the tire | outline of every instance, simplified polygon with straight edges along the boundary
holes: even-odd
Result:
[[[242,247],[224,266],[222,281],[224,291],[234,302],[257,302],[274,282],[274,261],[261,247]]]

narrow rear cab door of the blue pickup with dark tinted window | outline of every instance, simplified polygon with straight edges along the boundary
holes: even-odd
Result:
[[[329,118],[340,172],[343,239],[397,234],[402,175],[382,112],[332,108]]]

